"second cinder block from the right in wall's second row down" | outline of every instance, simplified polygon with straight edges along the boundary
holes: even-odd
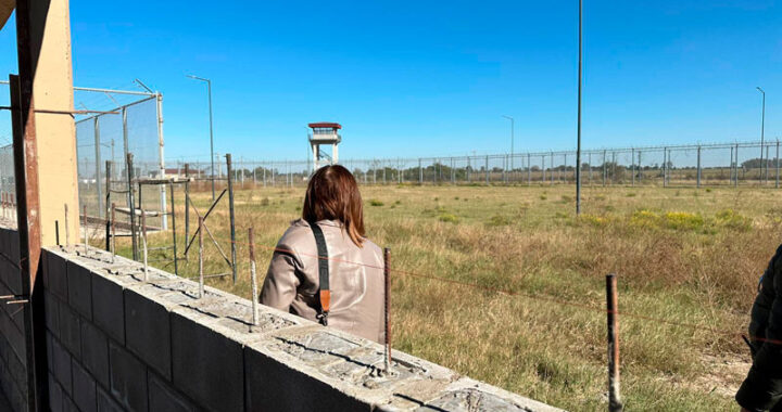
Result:
[[[111,394],[122,407],[147,411],[147,368],[127,350],[109,343]]]

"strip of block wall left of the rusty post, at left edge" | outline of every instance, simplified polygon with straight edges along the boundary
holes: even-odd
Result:
[[[18,232],[0,227],[0,296],[22,294]],[[0,299],[0,389],[13,411],[27,409],[27,351],[22,305]]]

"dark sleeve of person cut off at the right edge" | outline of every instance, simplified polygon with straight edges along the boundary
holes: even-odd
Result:
[[[782,398],[782,246],[761,279],[749,332],[757,349],[736,401],[751,411],[771,409]]]

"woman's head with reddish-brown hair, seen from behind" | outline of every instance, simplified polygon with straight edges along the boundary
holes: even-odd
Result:
[[[342,166],[325,166],[310,179],[302,218],[310,224],[318,220],[341,221],[356,246],[364,242],[364,206],[358,184]]]

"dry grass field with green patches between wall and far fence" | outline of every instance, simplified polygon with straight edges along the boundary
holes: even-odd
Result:
[[[247,229],[255,228],[262,246],[263,275],[303,193],[238,191],[239,281],[209,283],[249,296]],[[391,248],[394,269],[521,294],[394,273],[394,348],[573,411],[603,410],[607,401],[606,273],[619,276],[620,311],[739,334],[782,242],[773,189],[585,188],[580,218],[573,186],[363,186],[362,194],[367,234]],[[193,198],[203,213],[211,195]],[[207,222],[229,253],[227,204]],[[121,252],[128,249],[125,243]],[[211,244],[206,256],[209,273],[226,271]],[[193,249],[180,272],[195,274],[197,258]],[[628,410],[735,408],[749,361],[737,336],[619,319]]]

